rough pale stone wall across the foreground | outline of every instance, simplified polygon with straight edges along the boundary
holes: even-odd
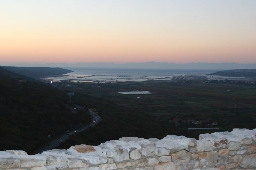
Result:
[[[36,155],[7,150],[0,152],[0,169],[256,169],[256,129],[201,134],[199,140],[126,137]]]

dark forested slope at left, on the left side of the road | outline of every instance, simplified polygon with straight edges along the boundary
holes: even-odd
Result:
[[[48,142],[91,117],[72,113],[64,91],[0,68],[0,150],[33,153]]]

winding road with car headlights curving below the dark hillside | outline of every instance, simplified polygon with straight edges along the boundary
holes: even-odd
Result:
[[[67,134],[64,134],[64,135],[60,136],[57,139],[54,139],[53,141],[48,143],[47,146],[44,146],[43,148],[38,149],[37,153],[40,153],[40,152],[43,152],[43,151],[46,151],[46,150],[51,150],[51,149],[57,147],[61,142],[65,142],[69,138],[70,135],[82,132],[82,131],[86,130],[89,127],[93,127],[93,126],[97,125],[101,121],[100,116],[96,112],[94,112],[92,109],[88,109],[88,111],[91,114],[91,117],[92,117],[92,120],[93,120],[92,123],[90,123],[90,125],[86,125],[86,126],[83,126],[81,128],[75,129],[73,131],[70,131]]]

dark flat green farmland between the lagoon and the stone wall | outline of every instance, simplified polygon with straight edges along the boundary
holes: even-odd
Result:
[[[71,86],[66,86],[67,84]],[[155,128],[150,133],[154,131],[159,134],[158,138],[167,134],[198,138],[200,133],[214,132],[187,130],[193,127],[219,127],[219,131],[231,131],[233,128],[256,128],[255,85],[171,81],[59,82],[55,85],[62,90],[75,91],[77,94],[108,102],[116,108],[110,111],[113,114],[118,114],[115,110],[121,109],[128,115],[138,115],[144,117],[145,120],[153,120],[159,126],[152,123]],[[151,91],[153,93],[118,94],[116,91]],[[104,106],[95,105],[95,107],[102,109],[102,114],[109,114]],[[189,120],[201,123],[193,124],[189,123]],[[212,125],[214,122],[217,122],[217,125]],[[127,135],[130,136],[129,133]],[[83,135],[83,138],[85,137],[86,135]],[[90,141],[86,142],[90,143]],[[97,142],[92,142],[92,144],[95,143]]]

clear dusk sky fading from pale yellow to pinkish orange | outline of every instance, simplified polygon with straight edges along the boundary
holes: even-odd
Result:
[[[255,0],[0,1],[0,65],[256,63],[255,9]]]

